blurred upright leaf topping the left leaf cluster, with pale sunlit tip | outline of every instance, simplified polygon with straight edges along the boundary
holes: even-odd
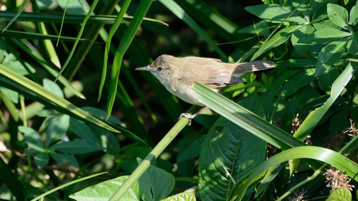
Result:
[[[45,147],[49,147],[53,142],[61,139],[69,126],[69,116],[63,114],[59,117],[51,117],[45,123],[46,142]]]

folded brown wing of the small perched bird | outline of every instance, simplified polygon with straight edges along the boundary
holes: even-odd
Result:
[[[200,65],[198,65],[197,67],[195,67],[195,69],[202,68],[200,68]],[[207,72],[198,72],[201,73],[202,76],[195,76],[197,78],[195,81],[205,85],[208,88],[219,88],[244,82],[243,79],[235,77],[223,67],[205,65],[205,69],[207,69]]]

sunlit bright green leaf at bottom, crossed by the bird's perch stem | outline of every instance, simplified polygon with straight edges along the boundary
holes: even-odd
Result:
[[[69,195],[68,197],[77,201],[88,201],[88,200],[108,201],[113,195],[113,192],[115,192],[118,189],[118,187],[122,186],[122,184],[127,178],[128,176],[121,176],[112,180],[101,182],[96,185],[87,187],[82,191],[78,191],[77,193]],[[128,191],[126,191],[122,199],[128,201],[140,200],[138,182],[135,182],[131,186],[131,188]]]

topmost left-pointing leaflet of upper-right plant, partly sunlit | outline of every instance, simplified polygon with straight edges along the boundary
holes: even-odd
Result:
[[[287,21],[307,24],[306,20],[296,15],[291,10],[277,4],[247,6],[245,7],[245,10],[272,23],[282,23],[283,21]]]

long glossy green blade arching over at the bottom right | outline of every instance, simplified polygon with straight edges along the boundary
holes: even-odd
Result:
[[[358,178],[355,177],[356,173],[358,172],[358,165],[357,163],[349,160],[347,157],[322,147],[295,147],[278,153],[255,168],[251,175],[247,178],[247,181],[245,181],[242,186],[235,190],[232,200],[241,200],[251,182],[268,168],[276,166],[282,162],[298,158],[312,158],[315,160],[323,161],[336,167],[338,170],[347,173],[347,175],[351,178],[354,178],[354,180],[358,180]]]

